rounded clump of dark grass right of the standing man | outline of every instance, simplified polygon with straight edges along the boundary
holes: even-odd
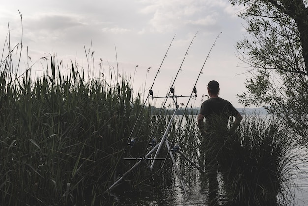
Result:
[[[229,205],[290,204],[295,140],[277,119],[246,116],[237,131],[217,137],[217,160]]]

